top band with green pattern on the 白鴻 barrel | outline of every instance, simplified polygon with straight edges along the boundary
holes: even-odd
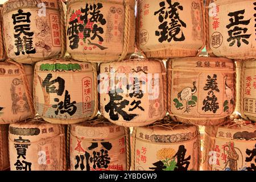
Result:
[[[49,72],[74,72],[74,71],[93,71],[92,63],[79,62],[72,59],[51,59],[36,63],[35,71]]]

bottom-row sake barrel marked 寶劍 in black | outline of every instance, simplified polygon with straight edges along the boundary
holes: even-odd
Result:
[[[30,119],[9,127],[11,171],[63,171],[65,149],[63,125]]]

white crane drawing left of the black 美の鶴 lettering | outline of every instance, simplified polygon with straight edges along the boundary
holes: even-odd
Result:
[[[197,88],[196,88],[196,81],[193,82],[193,88],[190,88],[190,87],[187,87],[187,88],[184,88],[181,92],[179,92],[177,94],[177,97],[182,101],[186,101],[186,110],[184,111],[185,112],[189,112],[190,109],[188,107],[188,101],[191,100],[193,94],[195,94],[197,91]]]

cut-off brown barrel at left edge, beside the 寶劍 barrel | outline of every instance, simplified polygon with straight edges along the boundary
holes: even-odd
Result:
[[[0,171],[10,167],[8,152],[8,125],[0,125]]]

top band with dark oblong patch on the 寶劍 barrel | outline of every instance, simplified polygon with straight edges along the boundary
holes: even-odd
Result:
[[[11,141],[21,137],[22,139],[30,140],[30,142],[39,142],[40,140],[55,138],[60,134],[64,134],[64,126],[47,123],[41,118],[11,123],[9,126]]]

